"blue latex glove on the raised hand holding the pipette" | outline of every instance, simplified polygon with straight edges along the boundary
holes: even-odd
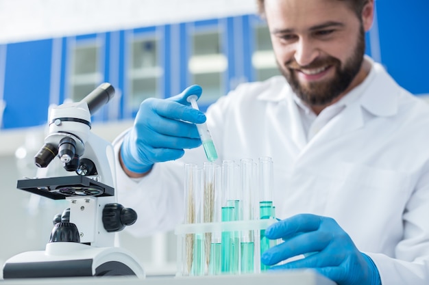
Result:
[[[127,169],[143,174],[154,163],[179,159],[185,148],[201,145],[195,124],[206,122],[206,116],[186,101],[193,94],[199,98],[201,92],[201,87],[192,85],[177,96],[148,98],[140,104],[134,126],[121,146]]]

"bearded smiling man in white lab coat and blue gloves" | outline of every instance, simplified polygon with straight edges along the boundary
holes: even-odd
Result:
[[[205,115],[186,102],[198,86],[140,105],[116,143],[119,198],[140,217],[130,230],[182,221],[183,167],[204,162],[195,124],[207,120],[219,161],[274,161],[282,220],[265,234],[284,242],[262,254],[271,270],[312,268],[341,285],[429,284],[429,106],[364,55],[373,0],[258,7],[283,76],[244,83]]]

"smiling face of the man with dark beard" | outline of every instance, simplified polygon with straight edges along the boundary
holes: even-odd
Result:
[[[304,102],[329,105],[358,84],[365,29],[343,1],[265,0],[265,12],[280,71]]]

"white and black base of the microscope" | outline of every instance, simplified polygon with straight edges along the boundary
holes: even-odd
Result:
[[[3,267],[4,279],[112,275],[142,278],[145,272],[124,249],[82,243],[48,243],[45,251],[23,252]]]

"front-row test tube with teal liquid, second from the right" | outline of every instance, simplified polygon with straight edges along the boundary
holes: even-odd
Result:
[[[254,161],[241,159],[241,197],[243,199],[243,221],[254,219],[256,177]],[[240,269],[241,273],[254,273],[254,230],[243,230],[240,238]]]

